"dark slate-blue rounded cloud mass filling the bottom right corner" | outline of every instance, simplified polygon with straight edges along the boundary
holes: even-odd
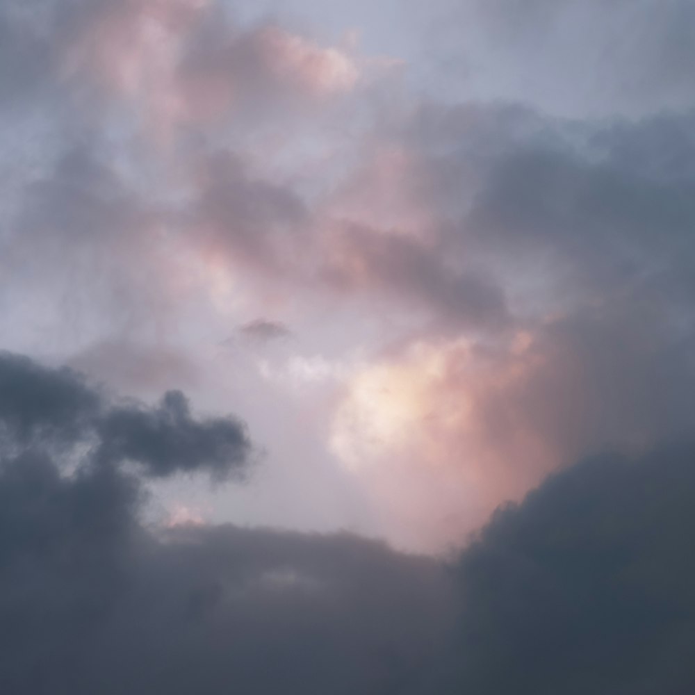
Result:
[[[692,692],[694,464],[604,455],[500,509],[457,566],[461,692]]]

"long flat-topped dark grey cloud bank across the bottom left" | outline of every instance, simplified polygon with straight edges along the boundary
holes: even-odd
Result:
[[[347,535],[156,535],[142,500],[99,455],[70,476],[38,452],[3,456],[8,692],[429,692],[448,623],[436,562]]]

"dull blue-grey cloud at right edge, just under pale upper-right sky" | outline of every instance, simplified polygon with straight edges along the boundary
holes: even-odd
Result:
[[[692,117],[566,126],[494,156],[455,243],[579,302],[662,304],[689,316],[695,264]],[[514,281],[514,271],[510,279]],[[558,295],[559,297],[559,295]],[[566,307],[564,309],[566,311]]]

